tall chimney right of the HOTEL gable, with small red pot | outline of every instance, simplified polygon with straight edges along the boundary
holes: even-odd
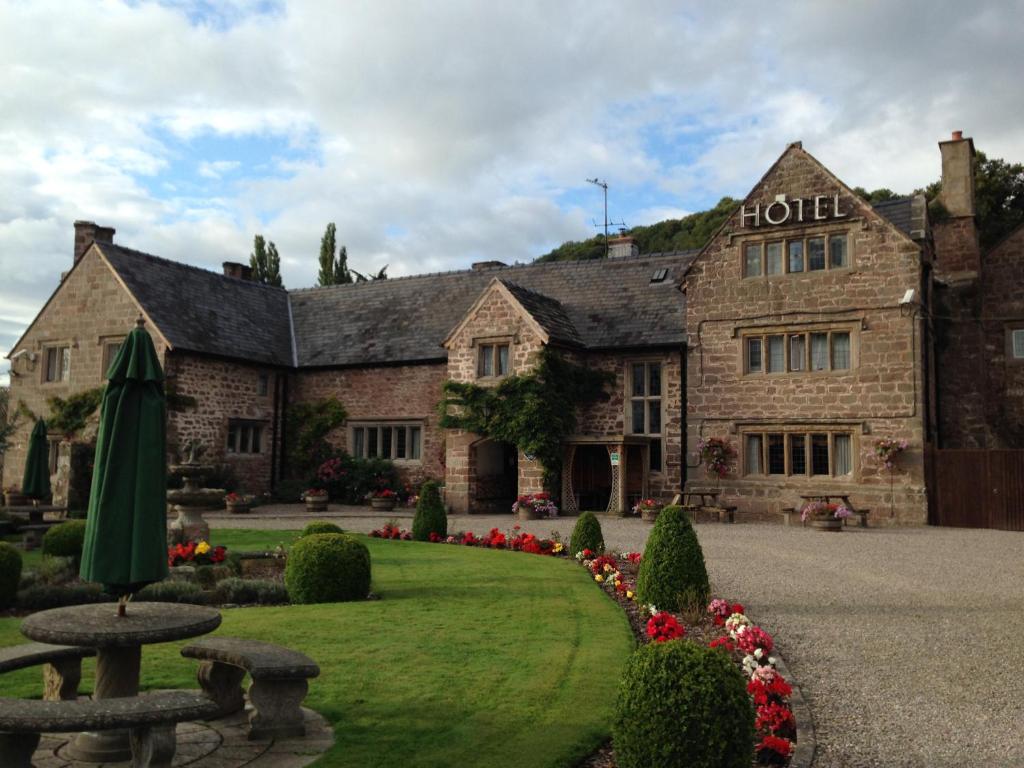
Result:
[[[942,153],[942,191],[939,202],[947,218],[932,222],[935,276],[947,285],[972,283],[981,270],[981,246],[974,207],[974,141],[953,131],[939,142]]]

